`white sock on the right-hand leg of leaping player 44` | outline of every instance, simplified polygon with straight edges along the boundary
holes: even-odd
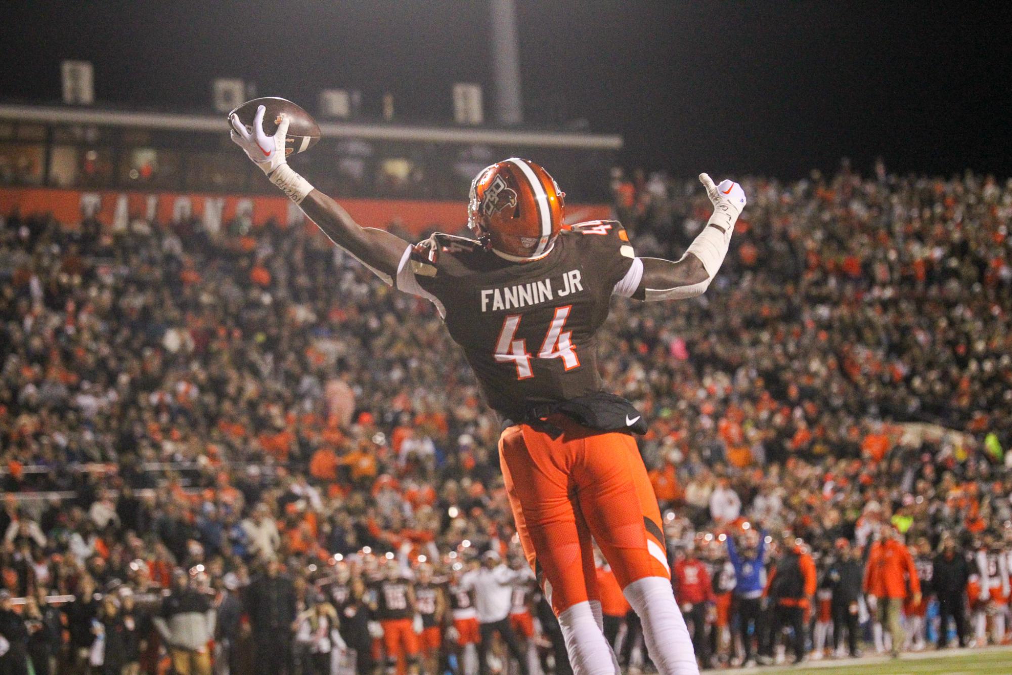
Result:
[[[697,675],[692,640],[671,582],[664,577],[645,577],[626,586],[622,593],[643,623],[644,642],[660,675]]]

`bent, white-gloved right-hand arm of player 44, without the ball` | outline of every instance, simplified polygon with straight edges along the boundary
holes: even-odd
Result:
[[[714,185],[705,173],[699,174],[699,181],[713,202],[713,215],[706,227],[679,260],[637,258],[628,274],[619,282],[625,284],[625,291],[616,287],[617,292],[644,301],[683,300],[701,296],[709,287],[728,254],[735,223],[746,200],[745,191],[738,183],[724,180]]]

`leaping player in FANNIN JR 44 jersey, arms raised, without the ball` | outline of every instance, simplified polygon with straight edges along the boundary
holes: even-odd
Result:
[[[671,591],[661,514],[632,433],[636,408],[602,391],[596,333],[612,296],[681,300],[709,286],[727,255],[745,192],[699,179],[713,214],[677,261],[636,256],[614,221],[563,227],[564,193],[549,173],[510,158],[471,185],[478,239],[436,234],[411,246],[362,228],[285,161],[288,119],[273,136],[261,106],[232,139],[338,246],[387,283],[435,304],[485,399],[504,420],[500,466],[527,562],[550,598],[577,673],[612,674],[601,628],[591,536],[643,620],[662,674],[696,673]]]

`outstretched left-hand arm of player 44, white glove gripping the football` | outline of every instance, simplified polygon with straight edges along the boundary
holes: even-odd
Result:
[[[257,108],[252,133],[233,113],[229,117],[233,128],[232,140],[263,170],[270,182],[299,204],[332,242],[355,256],[384,281],[391,283],[397,275],[398,264],[408,243],[385,230],[361,227],[340,204],[296,173],[288,166],[284,155],[284,137],[290,120],[282,113],[277,132],[273,136],[267,136],[263,131],[264,111],[262,105]]]

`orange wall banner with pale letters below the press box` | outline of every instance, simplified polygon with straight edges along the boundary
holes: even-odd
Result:
[[[387,228],[393,223],[412,232],[442,230],[457,232],[467,220],[463,201],[414,201],[395,199],[341,199],[341,205],[366,228]],[[131,221],[144,219],[168,223],[195,217],[217,232],[237,216],[254,225],[274,220],[282,224],[302,222],[302,212],[282,196],[200,194],[177,192],[131,192],[116,190],[67,190],[43,187],[0,188],[0,215],[17,208],[21,214],[53,214],[60,223],[76,226],[87,217],[102,225],[125,229]],[[609,218],[603,204],[567,206],[568,223]]]

